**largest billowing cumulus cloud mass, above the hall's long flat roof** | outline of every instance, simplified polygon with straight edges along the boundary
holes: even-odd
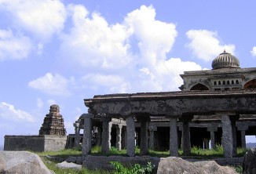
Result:
[[[177,62],[166,57],[177,37],[176,26],[155,20],[152,6],[142,5],[119,24],[108,24],[101,14],[90,14],[82,5],[69,5],[68,9],[73,27],[61,37],[61,62],[65,60],[68,66],[74,63],[75,70],[80,67],[86,74],[82,78],[85,88],[104,92],[159,91],[170,90],[174,83],[181,82],[171,77],[179,77]],[[172,68],[166,67],[170,63],[174,63]],[[190,67],[199,68],[196,63]]]

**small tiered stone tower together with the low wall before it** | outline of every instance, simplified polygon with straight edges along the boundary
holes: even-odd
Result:
[[[50,106],[38,136],[5,136],[4,150],[57,151],[67,145],[64,119],[57,104]]]

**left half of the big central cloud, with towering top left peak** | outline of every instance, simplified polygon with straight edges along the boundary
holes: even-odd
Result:
[[[74,27],[70,33],[62,35],[60,46],[60,54],[68,62],[101,69],[119,69],[130,63],[125,26],[109,25],[99,13],[90,17],[82,5],[68,7]]]

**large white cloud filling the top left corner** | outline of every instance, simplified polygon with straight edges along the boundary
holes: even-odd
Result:
[[[65,7],[59,0],[2,0],[0,7],[13,16],[13,26],[46,40],[60,32],[66,19]]]

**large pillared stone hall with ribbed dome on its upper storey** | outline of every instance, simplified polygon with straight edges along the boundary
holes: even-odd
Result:
[[[209,141],[211,147],[217,143],[224,147],[225,158],[235,157],[236,148],[245,147],[245,136],[256,135],[256,68],[240,68],[239,60],[225,51],[213,60],[212,67],[181,74],[180,92],[85,99],[89,114],[83,114],[83,154],[90,154],[95,120],[102,122],[97,126],[102,129],[104,151],[112,146],[112,139],[119,140],[110,136],[112,119],[117,119],[126,123],[124,140],[131,157],[136,145],[141,154],[151,148],[170,150],[170,156],[177,156],[178,148],[189,155],[192,146],[209,148]]]

